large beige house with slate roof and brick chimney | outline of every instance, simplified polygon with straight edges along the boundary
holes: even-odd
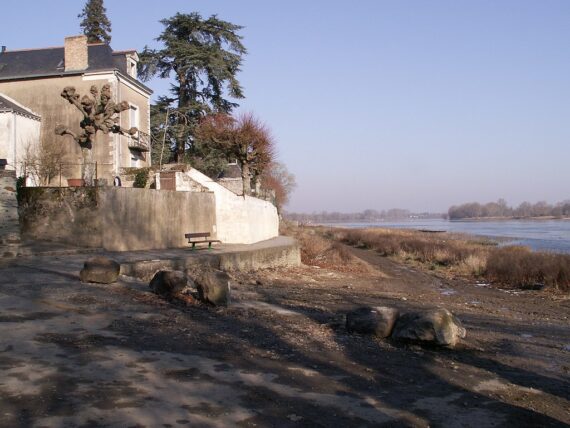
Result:
[[[137,80],[138,55],[134,50],[113,51],[108,44],[88,44],[86,36],[66,37],[64,46],[0,52],[0,93],[41,116],[40,141],[62,144],[65,154],[64,178],[81,177],[81,148],[69,136],[55,134],[57,125],[80,133],[83,119],[77,108],[60,94],[67,86],[89,95],[91,86],[99,90],[111,86],[113,99],[126,101],[130,108],[120,113],[119,125],[136,127],[135,137],[97,133],[93,144],[97,178],[112,183],[125,167],[150,165],[150,95],[152,91]]]

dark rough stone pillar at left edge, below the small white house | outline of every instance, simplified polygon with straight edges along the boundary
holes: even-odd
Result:
[[[16,173],[0,171],[0,258],[17,256],[20,244]]]

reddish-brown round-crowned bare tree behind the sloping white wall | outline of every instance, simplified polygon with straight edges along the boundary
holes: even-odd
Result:
[[[252,181],[273,161],[275,145],[269,128],[251,113],[234,118],[227,114],[206,116],[196,128],[196,143],[203,153],[215,152],[241,168],[244,195]]]

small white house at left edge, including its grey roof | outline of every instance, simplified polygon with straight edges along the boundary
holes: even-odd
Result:
[[[28,146],[40,139],[41,117],[22,104],[0,93],[0,163],[21,173],[21,161]]]

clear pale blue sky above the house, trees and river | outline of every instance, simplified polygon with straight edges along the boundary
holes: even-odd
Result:
[[[59,46],[82,0],[19,0],[0,45]],[[244,26],[238,79],[296,176],[288,211],[570,199],[570,1],[105,0],[115,50],[176,12]],[[31,13],[31,11],[33,11]],[[169,83],[154,79],[155,96]]]

